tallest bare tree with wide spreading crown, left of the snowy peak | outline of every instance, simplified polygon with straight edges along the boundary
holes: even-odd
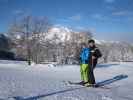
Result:
[[[31,65],[31,60],[38,63],[41,45],[46,43],[46,36],[50,27],[51,24],[48,18],[29,15],[16,18],[10,26],[9,33],[18,41],[21,40],[23,42],[19,41],[19,45],[26,50],[26,58],[29,65]]]

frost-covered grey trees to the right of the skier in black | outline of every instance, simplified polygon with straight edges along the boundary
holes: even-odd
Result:
[[[104,42],[99,45],[103,54],[100,62],[132,61],[132,45],[125,42]]]

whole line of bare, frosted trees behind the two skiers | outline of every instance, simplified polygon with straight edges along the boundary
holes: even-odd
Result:
[[[47,17],[19,16],[9,26],[7,36],[0,35],[0,51],[10,52],[14,59],[31,62],[58,62],[78,64],[81,44],[93,38],[89,31],[70,31],[61,41],[60,34],[53,34],[54,25]],[[100,62],[129,61],[133,59],[133,46],[129,43],[97,44],[103,57]],[[12,53],[12,54],[11,54]],[[2,55],[0,55],[2,57]],[[8,57],[7,57],[8,58]]]

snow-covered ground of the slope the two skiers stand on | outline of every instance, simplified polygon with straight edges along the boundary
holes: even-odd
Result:
[[[133,63],[98,65],[95,76],[110,89],[66,85],[80,81],[78,65],[0,61],[0,100],[133,100]]]

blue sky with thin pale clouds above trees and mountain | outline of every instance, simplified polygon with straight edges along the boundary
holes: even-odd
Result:
[[[0,0],[0,32],[14,16],[47,16],[53,24],[91,30],[100,40],[133,42],[133,0]]]

